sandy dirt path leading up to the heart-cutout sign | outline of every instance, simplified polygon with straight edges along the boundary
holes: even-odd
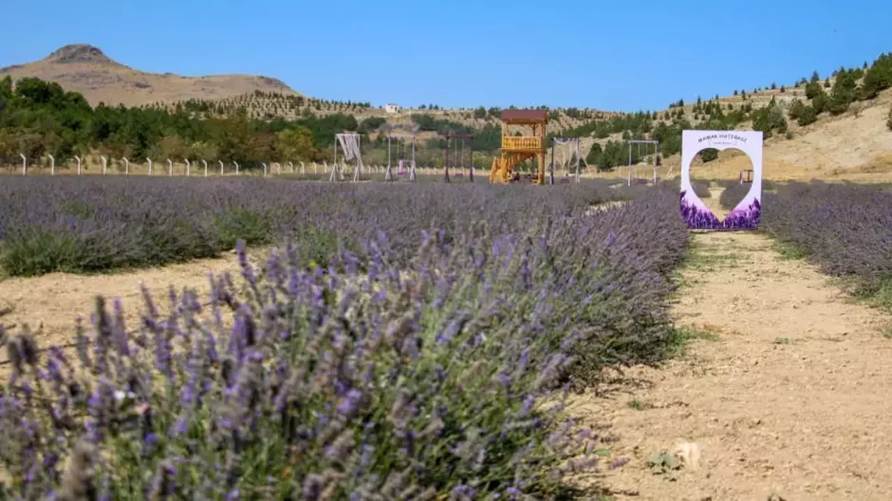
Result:
[[[609,461],[631,459],[588,480],[615,499],[892,499],[889,319],[763,235],[694,242],[675,307],[685,353],[571,406],[616,440]],[[696,467],[648,466],[685,442]]]

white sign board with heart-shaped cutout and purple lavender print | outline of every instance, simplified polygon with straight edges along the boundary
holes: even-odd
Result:
[[[742,130],[681,131],[681,217],[690,228],[715,230],[756,229],[762,213],[762,132]],[[726,218],[716,218],[690,184],[690,162],[708,148],[735,148],[753,163],[753,183]]]

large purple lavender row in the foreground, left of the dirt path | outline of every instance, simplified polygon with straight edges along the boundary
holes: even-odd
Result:
[[[439,190],[419,196],[456,196]],[[561,479],[595,464],[597,437],[563,398],[663,354],[689,238],[677,195],[417,232],[406,204],[326,267],[290,244],[254,269],[240,244],[241,276],[212,277],[209,306],[171,289],[161,316],[145,293],[126,326],[97,299],[76,353],[4,333],[0,498],[573,497]]]

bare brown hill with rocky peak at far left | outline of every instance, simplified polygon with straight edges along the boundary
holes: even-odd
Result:
[[[0,68],[0,78],[34,77],[84,94],[92,105],[142,106],[188,99],[222,99],[254,91],[297,95],[276,78],[253,75],[181,77],[134,70],[93,45],[65,45],[45,58]]]

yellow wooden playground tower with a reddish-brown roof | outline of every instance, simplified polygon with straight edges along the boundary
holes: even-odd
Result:
[[[504,184],[520,181],[520,173],[514,169],[525,160],[536,159],[536,174],[529,180],[537,185],[545,184],[545,127],[549,123],[547,110],[502,111],[502,144],[500,158],[492,160],[490,183]],[[533,136],[511,136],[509,126],[533,128]]]

